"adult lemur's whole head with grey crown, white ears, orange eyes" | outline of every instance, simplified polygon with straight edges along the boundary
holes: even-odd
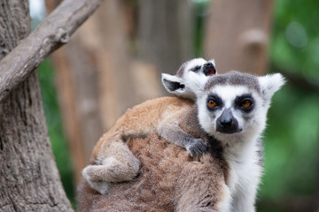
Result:
[[[199,124],[206,133],[231,142],[261,135],[271,97],[284,78],[280,73],[257,77],[228,72],[210,77],[204,87],[197,83],[189,85],[197,96]]]

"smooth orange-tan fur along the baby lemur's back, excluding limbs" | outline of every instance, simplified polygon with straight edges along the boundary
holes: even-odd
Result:
[[[115,123],[113,128],[97,141],[97,145],[92,153],[93,163],[97,161],[97,156],[105,150],[104,148],[108,148],[113,140],[128,139],[133,135],[140,137],[154,133],[158,123],[167,114],[182,114],[185,108],[187,110],[193,104],[194,102],[191,100],[177,97],[161,97],[143,102],[136,105],[133,109],[128,109]],[[113,138],[113,136],[116,138]]]

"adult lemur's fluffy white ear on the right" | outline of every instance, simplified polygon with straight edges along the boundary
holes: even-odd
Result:
[[[258,77],[258,80],[261,86],[261,94],[266,100],[270,100],[272,95],[274,95],[280,87],[284,86],[285,83],[285,79],[280,73]]]

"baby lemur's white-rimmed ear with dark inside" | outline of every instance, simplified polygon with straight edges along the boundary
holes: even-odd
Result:
[[[175,75],[162,73],[162,83],[167,91],[174,95],[183,95],[186,90],[183,79],[178,78]]]

